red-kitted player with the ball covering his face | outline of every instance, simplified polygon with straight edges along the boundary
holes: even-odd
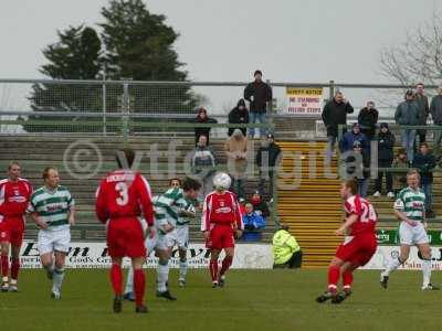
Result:
[[[236,196],[228,191],[230,184],[229,174],[218,173],[213,178],[215,191],[206,196],[202,209],[201,231],[211,253],[209,270],[212,287],[224,286],[225,273],[234,256],[234,237],[241,237],[244,228]],[[225,257],[218,273],[218,258],[222,249]]]

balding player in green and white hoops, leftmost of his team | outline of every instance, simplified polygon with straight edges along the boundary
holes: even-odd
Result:
[[[64,261],[71,244],[70,226],[75,224],[74,200],[70,191],[59,184],[56,168],[44,169],[43,180],[44,186],[31,195],[28,212],[40,228],[38,248],[41,263],[53,282],[51,296],[60,299]]]

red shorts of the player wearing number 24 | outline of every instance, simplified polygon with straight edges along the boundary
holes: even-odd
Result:
[[[375,255],[377,247],[375,234],[360,234],[347,237],[336,250],[335,256],[352,265],[365,266]]]

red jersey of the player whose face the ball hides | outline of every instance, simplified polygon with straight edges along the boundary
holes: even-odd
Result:
[[[232,226],[236,225],[239,229],[244,228],[240,206],[232,192],[219,193],[213,191],[206,196],[202,207],[201,231],[211,229],[214,224],[232,224]]]

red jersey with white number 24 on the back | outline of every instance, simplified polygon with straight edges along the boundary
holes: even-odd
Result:
[[[360,195],[352,195],[346,200],[344,203],[344,211],[347,216],[356,214],[358,221],[352,224],[350,235],[357,235],[361,233],[375,233],[376,222],[378,221],[378,215],[376,214],[375,207],[367,200]]]

